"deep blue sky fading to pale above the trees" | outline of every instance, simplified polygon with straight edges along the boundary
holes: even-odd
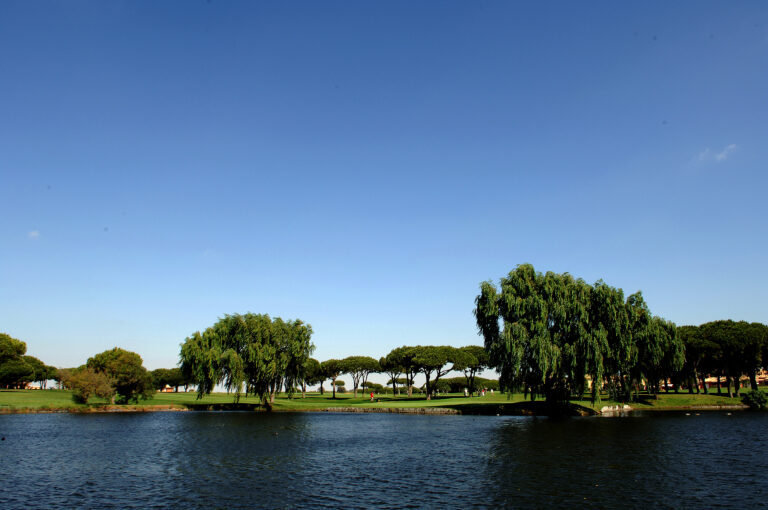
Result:
[[[479,344],[517,264],[768,322],[768,4],[0,2],[0,331]]]

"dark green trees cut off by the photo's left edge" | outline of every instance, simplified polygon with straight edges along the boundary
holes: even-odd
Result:
[[[48,380],[56,377],[56,367],[26,352],[26,343],[0,333],[0,387],[24,388],[30,382],[39,382],[45,388]]]

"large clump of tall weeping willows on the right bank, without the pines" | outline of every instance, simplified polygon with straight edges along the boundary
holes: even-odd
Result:
[[[640,292],[589,285],[570,274],[539,273],[522,264],[484,282],[475,318],[490,364],[505,389],[522,389],[550,402],[582,395],[603,383],[614,398],[637,394],[641,380],[658,393],[660,381],[678,373],[685,347],[675,324],[651,314]]]

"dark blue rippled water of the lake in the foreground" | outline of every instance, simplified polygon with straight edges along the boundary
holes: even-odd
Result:
[[[0,508],[758,508],[768,415],[0,416]]]

